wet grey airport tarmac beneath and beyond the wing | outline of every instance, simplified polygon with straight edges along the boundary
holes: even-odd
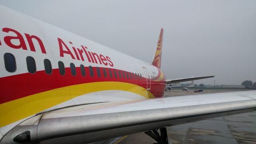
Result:
[[[204,90],[199,94],[233,92],[234,90]],[[198,94],[194,90],[170,90],[164,97]],[[256,144],[256,112],[202,120],[168,127],[172,144]],[[156,143],[144,132],[123,137],[115,144]]]

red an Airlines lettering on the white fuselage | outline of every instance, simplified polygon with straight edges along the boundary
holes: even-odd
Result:
[[[20,49],[22,48],[23,50],[28,50],[25,40],[20,34],[20,32],[11,29],[11,28],[3,28],[3,32],[9,33],[13,32],[17,36],[5,36],[4,37],[4,42],[7,46],[10,48],[14,49]],[[46,50],[44,47],[44,44],[38,36],[35,35],[30,35],[30,34],[25,34],[26,40],[28,41],[28,45],[31,51],[36,52],[33,40],[36,40],[40,46],[42,54],[46,54]],[[58,44],[60,48],[60,57],[67,57],[68,55],[74,59],[74,60],[82,60],[82,61],[88,61],[96,64],[104,64],[105,66],[114,66],[113,62],[111,61],[111,58],[109,56],[104,56],[102,54],[97,54],[96,52],[89,52],[88,47],[81,45],[81,48],[75,48],[74,46],[72,47],[72,51],[70,48],[67,46],[67,44],[61,39],[58,39]],[[18,40],[20,42],[19,45],[13,44],[12,40]],[[73,44],[72,42],[69,41],[69,44]],[[2,45],[1,40],[0,40],[0,45]]]

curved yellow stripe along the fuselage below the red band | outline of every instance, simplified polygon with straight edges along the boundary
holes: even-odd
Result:
[[[0,104],[0,128],[77,96],[104,90],[123,90],[145,98],[154,98],[145,88],[125,82],[92,82],[66,86]]]

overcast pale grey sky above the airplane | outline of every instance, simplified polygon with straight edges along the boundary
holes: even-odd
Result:
[[[0,0],[0,4],[151,62],[164,28],[166,78],[256,81],[256,0]]]

